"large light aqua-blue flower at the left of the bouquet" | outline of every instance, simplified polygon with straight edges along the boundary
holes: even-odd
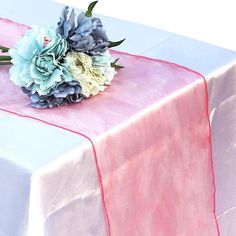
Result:
[[[47,95],[52,88],[73,77],[63,65],[68,44],[53,27],[33,27],[9,53],[13,66],[10,79],[31,88],[32,94]]]

